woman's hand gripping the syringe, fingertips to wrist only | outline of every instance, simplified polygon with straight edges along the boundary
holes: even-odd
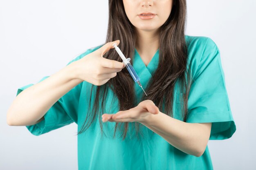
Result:
[[[75,67],[75,78],[101,86],[117,75],[125,65],[122,62],[109,60],[103,55],[112,48],[114,43],[119,44],[119,40],[108,42],[96,51],[71,63]]]

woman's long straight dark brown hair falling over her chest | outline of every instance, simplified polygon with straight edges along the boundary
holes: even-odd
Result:
[[[171,14],[166,22],[159,28],[159,65],[157,70],[152,75],[146,87],[146,93],[143,100],[150,99],[159,110],[166,115],[173,117],[173,96],[175,83],[180,82],[181,93],[184,93],[184,108],[182,110],[183,121],[186,121],[187,115],[187,100],[190,89],[190,84],[186,82],[189,79],[189,72],[186,69],[187,65],[187,46],[185,42],[185,29],[186,23],[186,0],[176,0]],[[124,4],[121,0],[109,0],[109,20],[108,32],[106,43],[115,40],[120,40],[119,48],[125,56],[134,57],[135,42],[136,42],[135,26],[131,24],[126,16]],[[117,60],[122,62],[119,55],[114,50],[108,51],[103,57],[110,60]],[[101,111],[104,110],[104,101],[108,90],[112,90],[119,100],[120,110],[128,110],[136,106],[135,99],[135,82],[128,73],[127,69],[117,73],[117,76],[110,79],[106,84],[97,86],[95,101],[92,113],[87,113],[86,119],[78,134],[84,132],[94,121],[95,117],[99,117],[99,124],[101,132],[103,126],[101,121],[102,112],[99,112],[99,96],[101,97]],[[94,85],[91,89],[91,95]],[[91,99],[89,105],[91,105]],[[164,110],[163,104],[164,102]],[[90,106],[89,109],[90,110]],[[88,122],[87,122],[88,121]],[[87,122],[87,124],[85,124]],[[135,123],[137,133],[139,131],[139,123]],[[128,122],[116,122],[115,133],[119,124],[124,124],[123,140],[126,137],[128,130]],[[105,133],[104,133],[105,134]]]

